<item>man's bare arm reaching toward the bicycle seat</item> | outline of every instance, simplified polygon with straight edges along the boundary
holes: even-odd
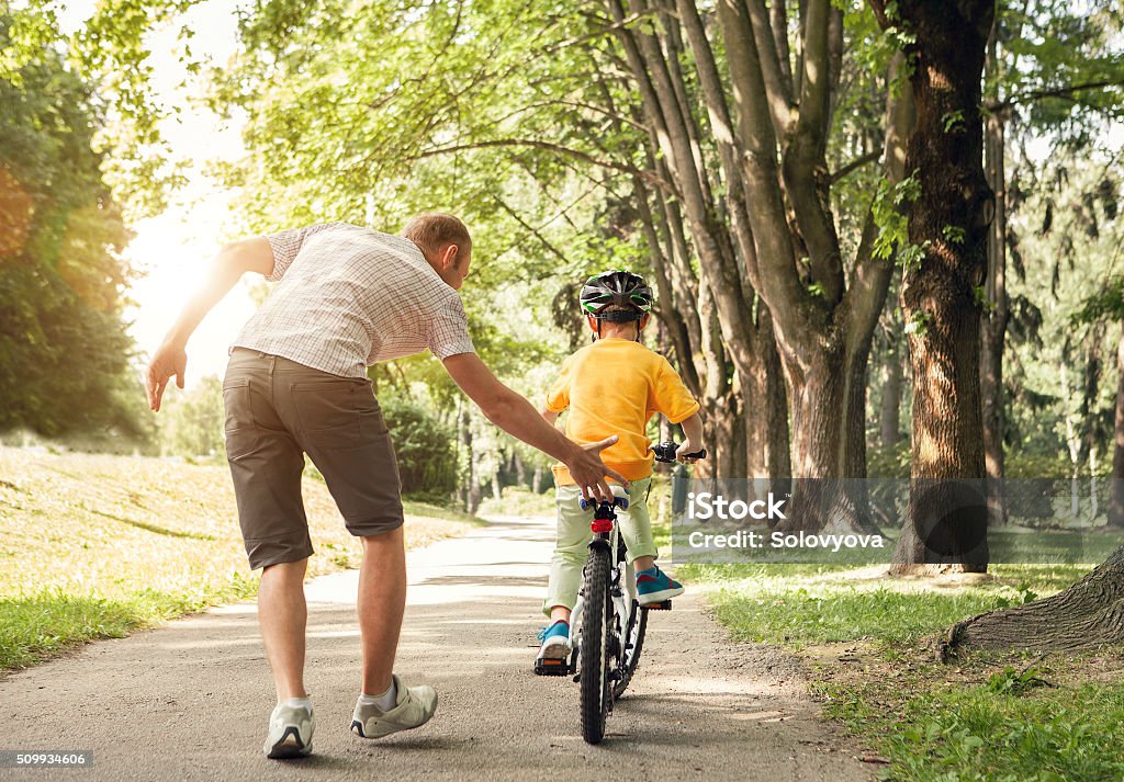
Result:
[[[606,467],[599,456],[604,448],[617,442],[616,435],[600,443],[580,446],[547,424],[531,402],[499,382],[475,353],[457,353],[445,358],[444,364],[453,381],[477,403],[488,420],[566,465],[582,497],[610,498],[606,475],[623,484],[628,483]]]

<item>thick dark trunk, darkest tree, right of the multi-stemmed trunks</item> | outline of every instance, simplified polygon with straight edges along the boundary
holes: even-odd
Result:
[[[895,553],[897,572],[987,570],[987,504],[980,410],[980,295],[987,275],[992,200],[984,173],[980,121],[984,58],[995,0],[907,0],[887,17],[914,43],[916,129],[906,153],[919,197],[909,204],[901,311],[914,376],[909,508]]]

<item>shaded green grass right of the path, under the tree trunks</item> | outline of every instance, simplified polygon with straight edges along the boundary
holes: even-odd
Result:
[[[1124,654],[973,653],[927,638],[968,616],[1064,589],[1090,565],[997,565],[888,579],[877,567],[683,565],[741,640],[792,649],[828,717],[907,782],[1124,779]]]

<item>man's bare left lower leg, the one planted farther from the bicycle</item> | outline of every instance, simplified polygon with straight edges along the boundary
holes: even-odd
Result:
[[[273,672],[278,702],[305,698],[305,571],[308,558],[269,565],[257,589],[257,622]]]

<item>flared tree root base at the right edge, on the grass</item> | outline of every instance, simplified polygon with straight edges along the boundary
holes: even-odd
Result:
[[[964,647],[1078,651],[1124,644],[1124,546],[1063,592],[957,622],[942,660]]]

